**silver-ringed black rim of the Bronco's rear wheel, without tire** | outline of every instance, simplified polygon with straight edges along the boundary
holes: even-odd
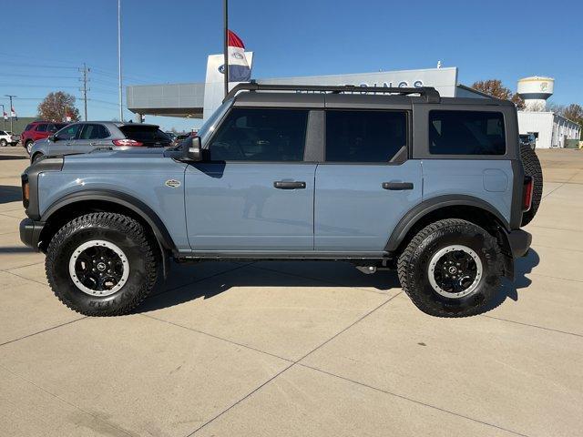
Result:
[[[460,262],[455,262],[455,257],[460,257]],[[452,245],[435,253],[429,261],[427,273],[436,293],[449,299],[461,299],[476,291],[484,270],[476,251],[467,246]],[[445,287],[445,278],[453,287]]]

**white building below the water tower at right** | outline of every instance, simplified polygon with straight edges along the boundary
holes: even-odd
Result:
[[[520,134],[534,134],[537,148],[565,147],[567,139],[579,139],[581,127],[554,112],[518,111]]]

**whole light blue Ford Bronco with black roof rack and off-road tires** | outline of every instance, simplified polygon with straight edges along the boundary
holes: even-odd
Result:
[[[463,317],[513,279],[542,178],[510,102],[251,83],[179,147],[47,157],[22,183],[21,239],[89,316],[133,310],[169,259],[294,259],[396,269],[420,310]]]

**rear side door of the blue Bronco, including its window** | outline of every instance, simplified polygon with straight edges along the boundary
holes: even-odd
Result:
[[[406,110],[326,110],[325,161],[316,170],[314,248],[381,252],[422,198],[421,161],[408,159]]]

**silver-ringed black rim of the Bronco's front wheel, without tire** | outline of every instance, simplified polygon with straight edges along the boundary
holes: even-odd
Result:
[[[95,259],[96,256],[87,256],[87,250],[98,252],[103,249],[113,252],[109,264],[107,259],[101,257]],[[93,262],[94,260],[97,262]],[[108,269],[112,264],[117,268],[115,272]],[[89,296],[110,296],[118,292],[128,282],[128,257],[117,245],[104,239],[92,239],[80,245],[71,254],[69,275],[77,289]]]

